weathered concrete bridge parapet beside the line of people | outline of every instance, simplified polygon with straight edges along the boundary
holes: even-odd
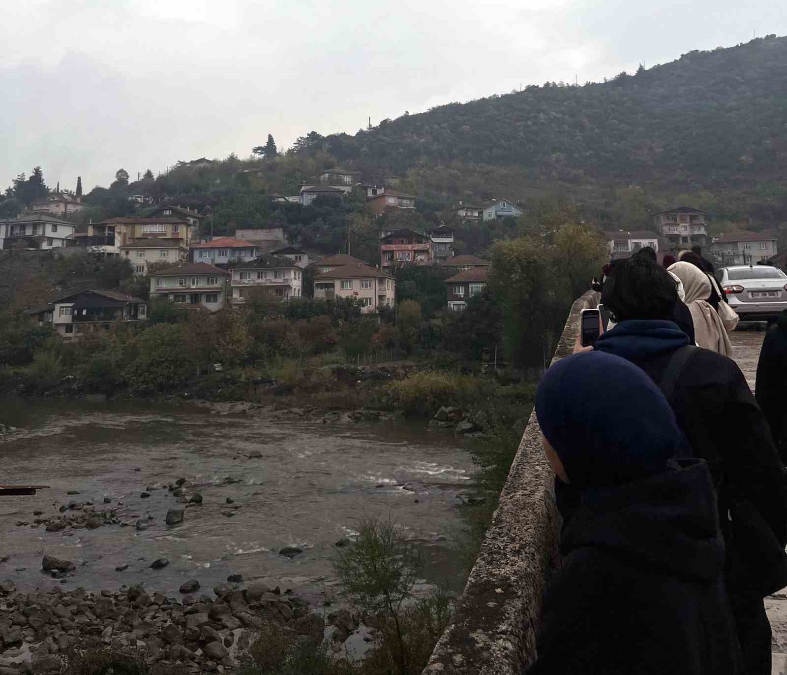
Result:
[[[593,291],[574,302],[552,363],[571,354],[580,311],[597,303]],[[423,675],[519,675],[535,660],[560,532],[555,474],[541,438],[533,412],[478,559]]]

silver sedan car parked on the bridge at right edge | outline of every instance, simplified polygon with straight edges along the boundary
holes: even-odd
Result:
[[[787,310],[787,274],[770,265],[730,265],[716,280],[741,321],[775,321]]]

